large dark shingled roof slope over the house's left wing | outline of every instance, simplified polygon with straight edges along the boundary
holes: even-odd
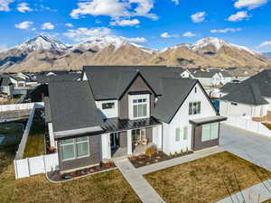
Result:
[[[103,123],[88,81],[51,82],[49,95],[54,132],[89,128]]]

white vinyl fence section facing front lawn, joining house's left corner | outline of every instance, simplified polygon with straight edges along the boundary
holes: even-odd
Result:
[[[55,171],[59,169],[58,153],[14,160],[15,179]]]

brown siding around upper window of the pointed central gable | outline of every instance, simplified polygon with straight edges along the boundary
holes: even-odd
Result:
[[[152,94],[150,95],[150,115],[154,109],[154,92],[151,88],[149,88],[146,84],[144,79],[138,75],[135,78],[133,84],[126,90],[124,96],[118,101],[118,115],[120,119],[127,119],[129,118],[129,92],[136,92],[136,91],[150,91]]]

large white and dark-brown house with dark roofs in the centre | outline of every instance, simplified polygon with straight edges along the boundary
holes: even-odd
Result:
[[[80,81],[49,83],[44,99],[60,170],[145,152],[198,151],[219,144],[218,115],[201,83],[182,69],[84,67]]]

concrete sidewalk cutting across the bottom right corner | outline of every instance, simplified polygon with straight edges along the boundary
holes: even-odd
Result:
[[[245,198],[245,199],[244,199]],[[228,198],[223,198],[216,203],[257,203],[271,198],[271,180],[244,189]]]

